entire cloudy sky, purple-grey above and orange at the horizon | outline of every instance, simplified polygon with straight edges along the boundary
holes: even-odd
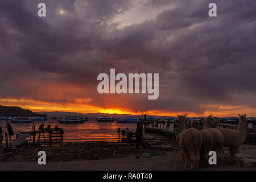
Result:
[[[38,3],[47,17],[38,16]],[[217,17],[208,16],[210,2]],[[1,0],[0,104],[34,111],[256,115],[256,1]],[[97,75],[159,73],[159,98]]]

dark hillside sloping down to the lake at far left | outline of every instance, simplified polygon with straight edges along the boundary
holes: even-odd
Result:
[[[47,117],[46,114],[33,113],[31,110],[25,110],[16,106],[0,105],[0,116],[9,117]]]

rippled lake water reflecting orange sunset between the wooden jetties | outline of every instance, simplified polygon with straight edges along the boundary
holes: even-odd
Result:
[[[36,130],[38,130],[41,123],[44,127],[51,125],[54,128],[56,125],[64,130],[63,142],[85,142],[85,141],[102,141],[102,142],[115,142],[118,141],[118,128],[130,131],[136,130],[136,123],[117,123],[114,122],[97,122],[96,118],[89,118],[87,122],[80,124],[61,124],[55,119],[48,121],[35,121]],[[31,131],[33,123],[13,123],[15,134],[20,131]],[[3,126],[4,132],[6,131],[6,121],[0,121],[0,126]]]

